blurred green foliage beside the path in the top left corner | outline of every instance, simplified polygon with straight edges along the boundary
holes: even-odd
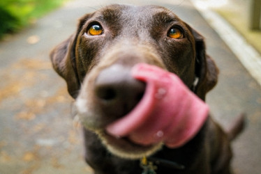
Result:
[[[66,0],[1,0],[0,38],[57,8]]]

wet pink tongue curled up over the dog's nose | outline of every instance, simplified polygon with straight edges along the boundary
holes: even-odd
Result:
[[[169,148],[191,140],[207,119],[207,104],[171,72],[141,63],[131,73],[147,83],[144,96],[133,111],[108,125],[107,132],[140,145],[163,141]]]

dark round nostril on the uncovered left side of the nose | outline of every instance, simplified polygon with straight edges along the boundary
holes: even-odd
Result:
[[[96,88],[96,96],[100,98],[101,100],[114,100],[117,97],[116,91],[107,86],[100,86]]]

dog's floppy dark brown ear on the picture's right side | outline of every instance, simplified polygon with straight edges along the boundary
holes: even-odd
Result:
[[[194,93],[204,100],[207,92],[216,86],[218,81],[218,68],[213,59],[205,52],[204,38],[202,35],[194,29],[191,30],[195,39],[195,75],[198,78]]]

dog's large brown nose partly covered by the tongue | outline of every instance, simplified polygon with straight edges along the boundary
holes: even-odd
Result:
[[[130,68],[113,65],[102,70],[95,82],[98,108],[105,116],[119,118],[129,113],[144,95],[146,85],[131,77]]]

